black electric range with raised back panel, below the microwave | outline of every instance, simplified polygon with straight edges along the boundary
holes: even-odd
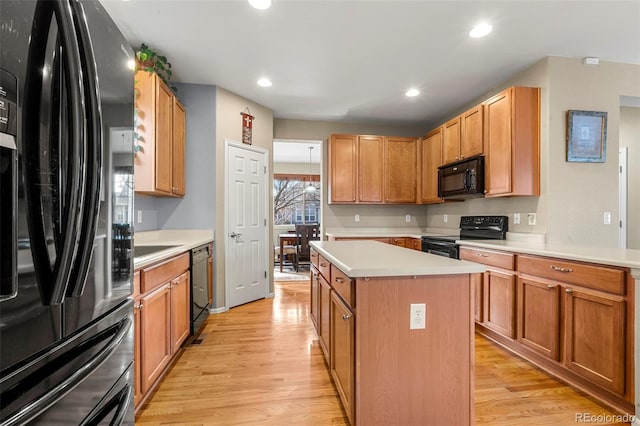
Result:
[[[457,240],[504,240],[508,230],[507,216],[462,216],[460,235],[422,237],[422,251],[459,259]]]

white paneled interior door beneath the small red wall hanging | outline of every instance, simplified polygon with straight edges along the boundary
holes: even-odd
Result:
[[[225,288],[232,308],[267,296],[267,155],[229,141],[225,148]]]

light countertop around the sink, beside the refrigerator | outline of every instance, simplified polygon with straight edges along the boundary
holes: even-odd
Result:
[[[213,229],[163,229],[158,231],[135,232],[135,246],[172,246],[165,250],[145,256],[136,256],[134,249],[133,265],[135,269],[149,266],[164,259],[177,256],[192,248],[213,241]]]

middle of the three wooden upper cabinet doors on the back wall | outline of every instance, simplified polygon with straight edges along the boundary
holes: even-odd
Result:
[[[382,136],[358,137],[358,201],[382,203],[384,201]]]

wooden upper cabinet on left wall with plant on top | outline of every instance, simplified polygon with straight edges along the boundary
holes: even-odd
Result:
[[[155,73],[136,72],[135,191],[159,196],[185,194],[185,110]]]

